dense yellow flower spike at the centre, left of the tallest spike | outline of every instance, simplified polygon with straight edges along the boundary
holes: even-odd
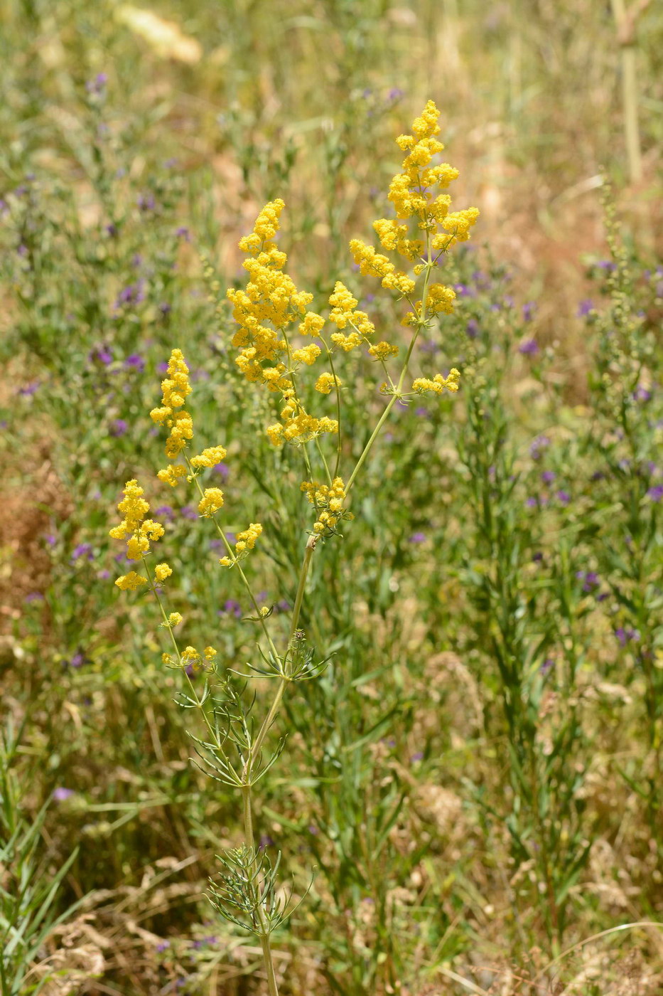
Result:
[[[275,446],[306,442],[323,432],[338,431],[335,419],[310,415],[296,396],[294,377],[298,368],[311,367],[322,350],[318,344],[292,350],[288,333],[296,331],[301,336],[315,338],[320,336],[325,319],[307,311],[313,294],[298,291],[284,273],[286,253],[271,241],[279,230],[284,206],[281,198],[267,204],[258,215],[253,232],[240,240],[240,249],[250,254],[243,263],[249,282],[245,290],[230,288],[227,292],[233,318],[239,326],[232,340],[239,349],[235,363],[247,380],[264,383],[269,390],[281,392],[284,398],[283,422],[267,427],[267,435]]]

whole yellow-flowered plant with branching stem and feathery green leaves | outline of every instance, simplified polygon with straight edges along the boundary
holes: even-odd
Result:
[[[127,559],[142,565],[142,573],[132,570],[117,578],[115,585],[130,591],[148,586],[158,602],[171,643],[163,662],[182,671],[185,691],[180,693],[180,704],[199,713],[202,721],[200,735],[191,733],[201,766],[212,778],[237,788],[242,795],[244,841],[221,859],[224,871],[212,883],[210,898],[226,918],[260,938],[272,996],[278,992],[278,983],[270,938],[292,912],[292,903],[279,891],[278,861],[271,863],[256,847],[252,795],[285,746],[282,737],[275,748],[267,750],[284,695],[294,682],[315,678],[327,664],[327,659],[317,659],[300,627],[312,559],[322,545],[341,535],[343,522],[352,519],[352,489],[396,401],[407,403],[418,394],[455,392],[459,386],[456,368],[446,374],[410,379],[412,352],[422,331],[429,329],[438,315],[451,314],[454,307],[455,291],[437,282],[435,272],[456,243],[467,241],[479,214],[474,207],[451,212],[451,198],[441,192],[458,176],[458,170],[448,163],[431,164],[444,147],[436,137],[438,118],[437,108],[429,101],[412,124],[412,133],[398,137],[398,146],[406,154],[402,171],[393,177],[388,192],[396,217],[373,223],[380,248],[400,256],[408,266],[413,264],[412,275],[398,269],[389,256],[372,245],[358,239],[350,242],[361,274],[379,280],[396,303],[406,303],[408,310],[401,318],[401,326],[407,330],[405,345],[398,345],[395,337],[391,342],[378,340],[374,324],[358,310],[357,298],[340,281],[335,282],[329,299],[327,319],[309,310],[313,295],[298,290],[285,272],[287,256],[275,241],[283,200],[268,203],[253,231],[240,240],[240,249],[247,254],[243,265],[249,281],[245,289],[227,292],[237,323],[232,338],[238,350],[235,362],[249,382],[277,402],[278,418],[264,431],[275,447],[298,447],[306,473],[301,490],[313,510],[306,540],[302,538],[297,595],[287,633],[279,636],[270,619],[272,611],[259,607],[248,574],[247,558],[263,534],[262,524],[250,523],[231,541],[221,525],[223,491],[201,484],[205,471],[226,457],[225,446],[216,443],[189,455],[194,428],[186,405],[192,388],[179,349],[170,356],[161,384],[161,404],[150,412],[152,420],[168,430],[165,452],[169,462],[157,477],[173,488],[184,481],[193,485],[198,514],[212,520],[225,549],[219,566],[236,571],[241,578],[255,612],[252,622],[260,627],[257,656],[248,665],[249,672],[221,670],[216,662],[218,651],[212,645],[202,651],[190,645],[181,647],[175,629],[183,622],[182,616],[168,613],[163,600],[163,585],[170,583],[172,569],[165,562],[150,569],[146,559],[150,544],[163,537],[164,529],[147,517],[149,504],[136,480],[127,481],[118,505],[122,520],[110,530],[111,537],[126,540]],[[349,355],[360,349],[379,366],[383,377],[379,390],[387,400],[348,472],[343,440],[352,426],[344,421],[343,390],[351,382]],[[319,362],[327,369],[317,375],[310,373]],[[332,395],[331,413],[314,406],[319,395]],[[324,403],[322,398],[320,402]],[[198,672],[204,675],[202,690],[193,680]],[[271,704],[258,723],[252,715],[255,699],[245,695],[251,672],[276,679]]]

